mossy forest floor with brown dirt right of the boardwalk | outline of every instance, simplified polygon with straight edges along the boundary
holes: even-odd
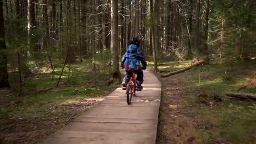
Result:
[[[191,61],[163,62],[163,73]],[[211,61],[160,78],[158,144],[255,144],[256,101],[228,99],[227,91],[256,93],[256,62]],[[247,86],[247,87],[244,87]]]

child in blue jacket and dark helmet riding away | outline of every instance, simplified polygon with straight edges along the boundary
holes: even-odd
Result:
[[[122,59],[122,68],[126,71],[126,74],[123,78],[122,87],[126,89],[126,84],[128,83],[128,72],[134,71],[137,75],[136,78],[136,90],[141,91],[143,89],[143,72],[142,69],[147,69],[147,62],[139,49],[140,40],[139,37],[132,37],[129,41],[129,46],[126,48],[125,54]],[[142,64],[142,67],[140,65]]]

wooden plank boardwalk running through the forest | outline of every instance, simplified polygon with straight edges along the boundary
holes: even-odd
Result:
[[[117,88],[43,144],[155,144],[160,97],[160,81],[146,70],[143,90],[136,91],[131,105]]]

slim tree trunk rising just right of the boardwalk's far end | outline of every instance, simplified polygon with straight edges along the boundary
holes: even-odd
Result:
[[[153,0],[150,0],[150,24],[151,24],[151,32],[152,32],[152,52],[154,58],[154,68],[155,72],[157,72],[157,55],[156,55],[156,40],[155,40],[155,18],[153,12]]]

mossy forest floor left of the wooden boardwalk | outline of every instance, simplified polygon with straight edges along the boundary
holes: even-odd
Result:
[[[62,65],[54,65],[53,80],[51,67],[35,67],[37,72],[23,82],[24,96],[13,92],[19,88],[19,78],[9,75],[12,89],[0,89],[0,144],[36,143],[67,125],[119,86],[108,83],[109,72],[100,63],[94,67],[91,61],[77,61],[70,64],[69,81],[67,65],[60,85],[53,87]]]

